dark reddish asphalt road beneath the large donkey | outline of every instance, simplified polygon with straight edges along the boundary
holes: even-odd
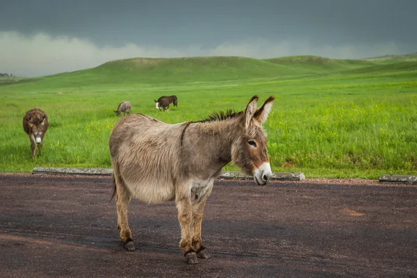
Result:
[[[110,177],[0,174],[0,277],[417,277],[417,186],[216,181],[212,258],[185,263],[173,203],[133,200],[117,234]]]

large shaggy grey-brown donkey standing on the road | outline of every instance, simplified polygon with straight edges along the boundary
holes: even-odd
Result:
[[[131,197],[143,202],[175,201],[181,227],[179,247],[187,263],[210,258],[202,244],[206,199],[222,167],[233,161],[259,186],[272,176],[262,124],[274,97],[256,108],[258,97],[245,111],[214,113],[206,120],[165,124],[132,114],[113,127],[109,139],[116,196],[117,229],[127,250],[135,250],[127,221]]]

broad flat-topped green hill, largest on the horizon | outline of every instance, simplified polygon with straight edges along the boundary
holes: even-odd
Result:
[[[42,82],[181,83],[297,75],[297,70],[245,57],[131,58],[89,70],[45,76]],[[83,85],[81,83],[81,85]]]

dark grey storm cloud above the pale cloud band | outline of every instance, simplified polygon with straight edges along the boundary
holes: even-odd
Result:
[[[414,0],[2,0],[0,31],[100,45],[210,46],[248,38],[416,44],[416,10]]]

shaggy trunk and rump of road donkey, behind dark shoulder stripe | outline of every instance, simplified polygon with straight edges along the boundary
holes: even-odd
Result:
[[[113,171],[133,196],[149,203],[174,199],[181,131],[181,124],[142,114],[127,115],[115,124],[109,139]]]

